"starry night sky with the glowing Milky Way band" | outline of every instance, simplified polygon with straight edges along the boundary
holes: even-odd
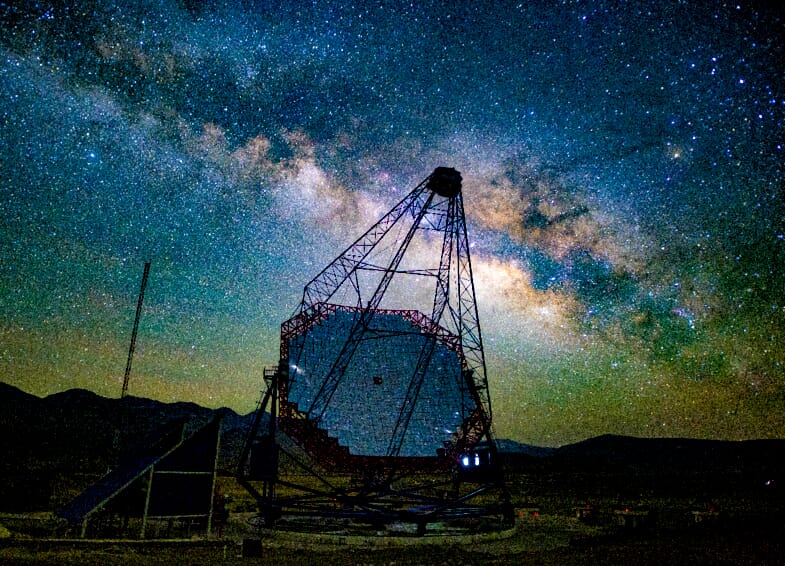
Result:
[[[463,192],[499,437],[785,430],[760,2],[0,2],[0,380],[253,409],[303,286]],[[375,3],[373,3],[375,4]]]

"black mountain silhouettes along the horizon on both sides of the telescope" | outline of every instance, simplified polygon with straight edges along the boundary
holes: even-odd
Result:
[[[109,399],[84,389],[41,398],[0,382],[0,511],[65,503],[124,456],[143,451],[176,427],[188,433],[215,416],[222,419],[219,472],[233,474],[253,413],[133,396]],[[781,494],[785,485],[785,440],[780,439],[603,435],[558,448],[506,439],[497,444],[508,471],[526,476],[537,489],[677,494],[765,486]]]

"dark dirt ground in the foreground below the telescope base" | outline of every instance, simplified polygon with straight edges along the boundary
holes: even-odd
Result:
[[[424,536],[417,536],[411,525],[373,530],[347,523],[345,528],[318,529],[316,523],[285,520],[268,530],[244,510],[231,513],[211,537],[64,540],[51,538],[51,514],[7,514],[0,516],[8,535],[0,538],[0,564],[785,563],[785,515],[778,497],[667,498],[649,493],[633,500],[607,492],[587,501],[566,487],[539,485],[540,494],[532,495],[527,477],[513,479],[511,485],[514,527],[472,532],[435,524]],[[235,502],[235,507],[243,506]]]

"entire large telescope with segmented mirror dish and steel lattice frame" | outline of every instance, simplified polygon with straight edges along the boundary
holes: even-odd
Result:
[[[281,325],[237,469],[267,524],[409,522],[424,534],[467,517],[512,523],[461,182],[434,170],[305,286]]]

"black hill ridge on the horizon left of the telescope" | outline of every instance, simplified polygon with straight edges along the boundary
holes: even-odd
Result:
[[[115,457],[118,429],[122,451],[134,453],[175,423],[184,423],[188,431],[216,415],[223,421],[219,465],[233,468],[237,444],[245,438],[251,415],[191,402],[163,403],[133,396],[110,399],[85,389],[42,398],[0,382],[0,452],[4,454],[0,473],[105,470]]]

